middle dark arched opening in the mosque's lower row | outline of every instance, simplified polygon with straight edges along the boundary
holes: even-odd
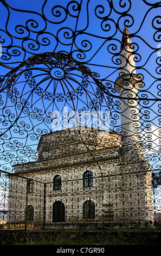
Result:
[[[65,205],[61,201],[53,204],[53,222],[65,222]]]

